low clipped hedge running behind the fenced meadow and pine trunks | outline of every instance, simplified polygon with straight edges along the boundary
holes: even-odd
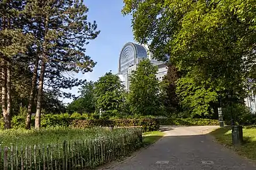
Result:
[[[13,128],[25,128],[24,116],[13,116],[11,121]],[[31,125],[35,124],[35,117],[32,117]],[[115,118],[109,119],[86,119],[83,116],[70,116],[66,113],[60,115],[42,115],[41,127],[134,127],[141,126],[145,131],[158,130],[160,127],[157,118]]]

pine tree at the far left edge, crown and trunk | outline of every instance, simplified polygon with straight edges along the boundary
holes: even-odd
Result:
[[[0,61],[1,61],[1,88],[4,128],[11,128],[11,82],[13,71],[13,57],[24,53],[30,43],[30,36],[23,33],[21,11],[24,1],[9,0],[0,3]]]

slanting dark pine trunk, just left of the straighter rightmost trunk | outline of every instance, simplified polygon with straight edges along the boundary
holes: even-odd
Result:
[[[30,96],[29,96],[29,101],[28,101],[28,113],[27,113],[27,118],[26,118],[26,129],[31,128],[31,114],[32,114],[32,106],[33,106],[34,99],[35,99],[35,88],[36,88],[36,85],[37,85],[38,65],[39,65],[39,56],[37,55],[37,59],[35,60],[34,73],[33,73],[33,77],[32,77],[31,91],[30,91]]]

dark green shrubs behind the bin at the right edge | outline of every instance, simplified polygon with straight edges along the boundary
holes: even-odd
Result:
[[[222,108],[223,118],[229,124],[231,118],[239,125],[255,125],[256,116],[253,115],[247,106],[241,103],[227,105]]]

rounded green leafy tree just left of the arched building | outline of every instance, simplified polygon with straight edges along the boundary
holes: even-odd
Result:
[[[121,111],[124,98],[124,86],[117,75],[107,72],[95,82],[95,106],[97,111],[102,110],[108,115]]]

